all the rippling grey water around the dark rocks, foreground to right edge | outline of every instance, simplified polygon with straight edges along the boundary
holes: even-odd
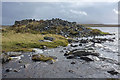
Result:
[[[93,27],[100,29],[104,32],[115,33],[115,35],[102,36],[101,38],[113,38],[114,42],[105,42],[102,44],[96,43],[95,48],[100,53],[100,56],[108,58],[108,61],[96,60],[94,62],[85,62],[81,59],[66,59],[64,56],[65,51],[80,49],[84,46],[71,47],[58,47],[54,49],[34,49],[34,53],[23,53],[21,57],[22,63],[19,60],[13,60],[3,65],[3,78],[117,78],[118,75],[111,75],[107,73],[109,69],[118,69],[112,60],[118,61],[118,28],[117,27]],[[100,37],[100,36],[99,36]],[[79,44],[79,43],[73,43]],[[85,44],[90,45],[90,43]],[[63,51],[63,52],[61,52]],[[32,54],[45,54],[56,56],[57,61],[54,64],[46,62],[33,62],[31,60]],[[112,60],[110,60],[112,59]],[[75,62],[75,64],[71,64]],[[27,68],[23,68],[27,65]],[[6,72],[7,68],[18,69],[19,72]]]

